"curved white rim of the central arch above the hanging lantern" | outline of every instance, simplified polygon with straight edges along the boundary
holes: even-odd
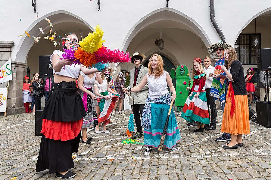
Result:
[[[164,15],[165,13],[167,14],[166,16]],[[204,29],[194,19],[173,8],[168,8],[167,10],[165,10],[164,8],[160,8],[151,13],[148,13],[146,16],[139,19],[139,21],[136,22],[134,26],[132,26],[132,28],[129,30],[126,37],[124,38],[122,44],[123,51],[126,52],[132,39],[145,27],[149,26],[154,22],[162,20],[170,20],[182,23],[188,26],[188,29],[191,32],[195,33],[199,38],[201,38],[206,47],[208,47],[211,44],[211,41],[208,38]]]

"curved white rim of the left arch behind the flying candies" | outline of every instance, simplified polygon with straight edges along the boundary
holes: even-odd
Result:
[[[34,44],[32,36],[34,37],[42,36],[41,32],[38,31],[40,27],[43,27],[43,30],[47,28],[51,28],[49,26],[49,23],[45,21],[45,18],[50,19],[53,25],[57,25],[63,22],[73,22],[73,23],[84,25],[88,27],[89,29],[91,29],[92,31],[94,31],[94,29],[85,20],[83,20],[79,16],[76,16],[75,14],[70,13],[68,11],[58,10],[58,11],[48,13],[42,16],[41,18],[36,19],[36,21],[34,21],[28,27],[26,31],[30,33],[30,38],[28,38],[27,36],[23,36],[20,39],[17,49],[16,49],[17,54],[16,54],[15,61],[26,63],[28,52]]]

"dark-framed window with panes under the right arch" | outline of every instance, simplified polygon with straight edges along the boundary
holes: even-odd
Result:
[[[257,46],[254,46],[254,38],[259,39]],[[256,51],[261,48],[261,34],[240,34],[234,44],[237,56],[244,65],[257,64]]]

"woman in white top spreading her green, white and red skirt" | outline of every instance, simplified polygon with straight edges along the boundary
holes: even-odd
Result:
[[[112,98],[112,96],[109,95],[109,92],[114,95],[119,95],[119,94],[112,91],[108,87],[108,82],[111,81],[110,73],[108,71],[105,71],[104,73],[100,73],[100,76],[103,79],[102,84],[99,84],[97,80],[94,82],[94,91],[95,91],[95,94],[97,96],[97,101],[98,101],[98,106],[96,106],[96,112],[98,115],[98,125],[95,128],[95,133],[100,134],[99,126],[101,125],[101,122],[103,122],[102,132],[108,134],[110,132],[107,131],[106,125],[110,122],[111,112],[113,111],[114,105],[117,101],[117,98]],[[108,103],[107,100],[109,100],[110,102]],[[106,105],[109,105],[109,106],[106,106]],[[104,113],[105,111],[106,113]],[[101,113],[103,113],[102,117],[100,116]]]

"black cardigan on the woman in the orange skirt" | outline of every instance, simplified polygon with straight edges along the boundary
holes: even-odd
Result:
[[[234,95],[247,95],[244,69],[239,60],[232,61],[230,73],[232,74]]]

